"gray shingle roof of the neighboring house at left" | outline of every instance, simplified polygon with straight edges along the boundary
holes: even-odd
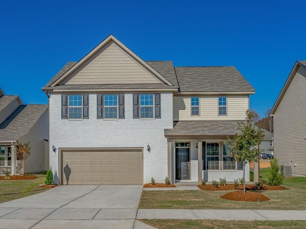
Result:
[[[0,141],[16,141],[43,115],[47,104],[21,105],[0,124]]]

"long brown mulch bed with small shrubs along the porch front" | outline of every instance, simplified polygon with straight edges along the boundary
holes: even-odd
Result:
[[[234,184],[227,184],[224,185],[218,185],[218,188],[215,188],[211,184],[205,184],[205,185],[198,185],[198,187],[202,190],[207,191],[218,191],[218,190],[243,190],[243,185],[239,185],[239,187],[234,187]],[[269,185],[263,185],[263,188],[259,189],[257,185],[255,184],[247,184],[245,185],[246,190],[286,190],[286,188],[282,186],[269,186]]]

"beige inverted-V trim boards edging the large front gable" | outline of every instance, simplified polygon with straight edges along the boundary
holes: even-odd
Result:
[[[126,47],[123,43],[121,43],[117,38],[115,38],[111,34],[107,38],[105,38],[99,45],[97,45],[94,49],[92,49],[89,53],[87,53],[81,60],[79,60],[76,64],[70,67],[62,76],[56,79],[50,86],[56,86],[60,84],[65,78],[67,78],[71,73],[73,73],[73,71],[75,71],[82,64],[85,64],[86,61],[89,60],[89,58],[91,58],[99,50],[103,49],[103,47],[110,44],[110,42],[114,42],[116,45],[118,45],[122,50],[128,53],[129,56],[131,56],[136,62],[141,64],[142,67],[144,67],[147,71],[149,71],[152,75],[154,75],[155,78],[159,79],[160,81],[162,81],[167,85],[172,86],[172,84],[166,78],[164,78],[158,71],[152,68],[149,64],[147,64],[139,56],[133,53],[128,47]]]

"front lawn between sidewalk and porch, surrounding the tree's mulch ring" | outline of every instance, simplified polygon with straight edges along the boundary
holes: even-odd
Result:
[[[260,170],[260,176],[263,179],[267,177],[267,170]],[[220,198],[229,191],[143,191],[138,208],[306,210],[306,177],[285,178],[282,186],[289,189],[260,191],[271,199],[260,203],[237,202]]]

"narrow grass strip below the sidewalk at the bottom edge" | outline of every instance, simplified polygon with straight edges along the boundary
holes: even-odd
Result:
[[[245,220],[140,220],[159,229],[300,229],[306,221],[245,221]]]

